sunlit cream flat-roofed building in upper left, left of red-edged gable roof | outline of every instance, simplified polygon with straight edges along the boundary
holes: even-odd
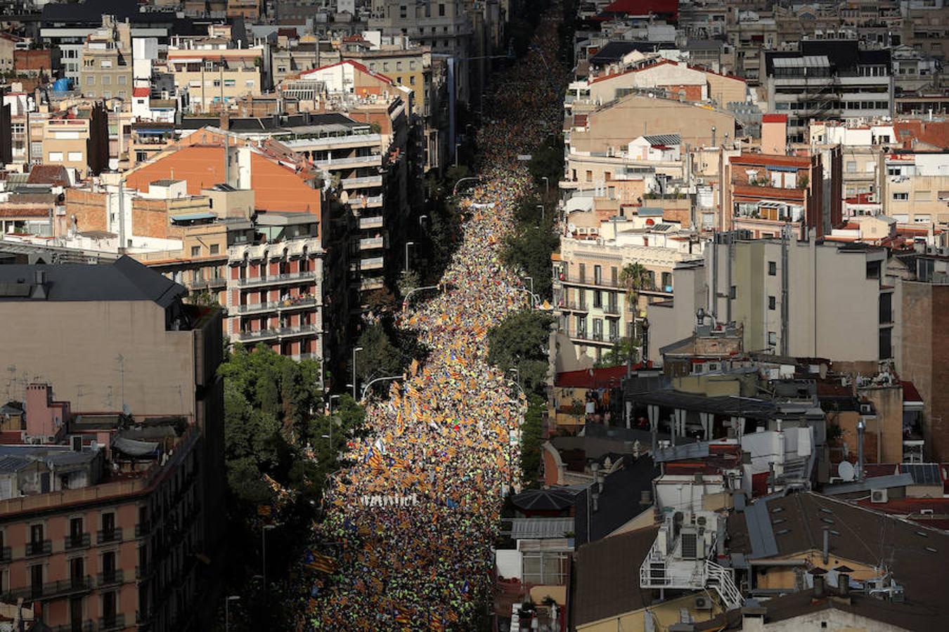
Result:
[[[167,65],[178,93],[187,91],[191,111],[214,112],[261,94],[263,57],[262,48],[169,48]]]

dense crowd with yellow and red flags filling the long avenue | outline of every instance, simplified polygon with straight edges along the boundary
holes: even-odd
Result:
[[[559,125],[547,70],[556,32],[555,20],[541,21],[536,48],[486,108],[493,122],[480,132],[479,183],[458,201],[466,220],[446,289],[400,317],[431,352],[367,407],[369,436],[348,444],[355,464],[327,483],[326,519],[314,525],[320,564],[301,575],[302,627],[471,629],[490,603],[491,550],[503,495],[519,487],[527,403],[488,364],[486,336],[530,304],[501,249],[513,204],[533,187],[517,154]]]

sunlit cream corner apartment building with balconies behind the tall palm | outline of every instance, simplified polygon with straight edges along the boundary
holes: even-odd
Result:
[[[600,220],[596,210],[568,215],[568,233],[554,255],[553,301],[559,330],[578,356],[600,360],[623,337],[639,335],[633,322],[645,306],[672,297],[673,269],[701,258],[702,243],[676,223],[662,219],[661,208],[639,208],[630,217]],[[630,303],[623,268],[640,263],[647,281],[639,302]]]

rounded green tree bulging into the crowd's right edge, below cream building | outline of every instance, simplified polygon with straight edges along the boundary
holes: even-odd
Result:
[[[549,336],[553,318],[523,310],[488,332],[488,361],[499,369],[518,370],[521,386],[543,392],[549,369]]]

